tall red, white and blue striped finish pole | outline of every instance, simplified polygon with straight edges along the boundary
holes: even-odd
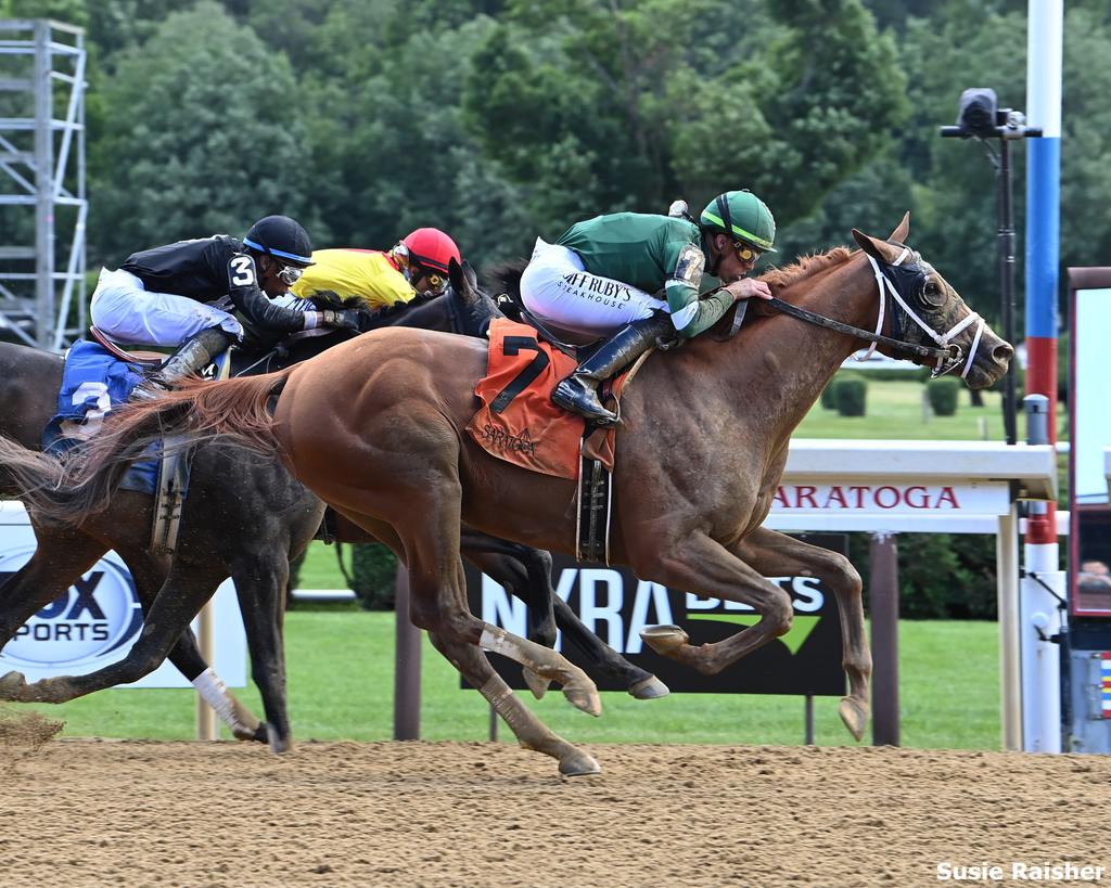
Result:
[[[1044,414],[1044,434],[1055,443],[1063,0],[1029,0],[1027,28],[1027,123],[1042,132],[1027,143],[1027,393],[1047,398],[1027,405],[1028,441],[1045,443],[1031,438],[1031,426],[1040,425],[1031,423],[1033,411]],[[1057,504],[1031,503],[1019,618],[1028,751],[1061,751],[1060,649],[1047,640],[1061,628],[1065,584],[1058,558]]]

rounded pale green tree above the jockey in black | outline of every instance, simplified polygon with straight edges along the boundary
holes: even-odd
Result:
[[[118,261],[154,243],[242,232],[268,213],[300,216],[312,232],[299,105],[286,59],[216,3],[167,18],[104,84],[93,252]]]

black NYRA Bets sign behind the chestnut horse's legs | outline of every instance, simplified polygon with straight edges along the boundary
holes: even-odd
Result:
[[[808,542],[845,552],[840,534],[804,535]],[[484,574],[468,567],[467,588],[471,610],[496,626],[526,634],[526,605]],[[631,663],[655,674],[677,692],[731,692],[738,694],[809,694],[841,696],[845,693],[841,668],[841,625],[833,593],[815,577],[768,577],[790,597],[794,607],[791,630],[744,658],[743,664],[719,675],[702,675],[661,657],[641,640],[640,630],[658,624],[678,624],[691,644],[720,642],[752,626],[759,615],[748,605],[717,597],[701,597],[639,579],[618,567],[581,565],[554,556],[552,585],[579,615],[587,628]],[[557,649],[562,649],[562,634]],[[585,665],[574,647],[571,659]],[[524,687],[521,669],[502,657],[490,662],[510,686]],[[597,673],[592,677],[598,680]],[[605,679],[602,690],[624,690]]]

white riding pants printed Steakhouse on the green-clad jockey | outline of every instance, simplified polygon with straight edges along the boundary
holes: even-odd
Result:
[[[539,238],[521,275],[521,301],[542,321],[592,335],[612,333],[631,321],[668,310],[664,300],[591,274],[573,250]]]

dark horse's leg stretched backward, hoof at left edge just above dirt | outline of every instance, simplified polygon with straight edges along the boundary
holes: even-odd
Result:
[[[193,573],[187,581],[174,565],[146,613],[139,639],[123,659],[88,675],[43,678],[31,685],[19,673],[8,673],[0,679],[0,699],[66,703],[113,685],[138,682],[162,664],[182,630],[226,576],[222,566],[212,566],[206,573]]]

